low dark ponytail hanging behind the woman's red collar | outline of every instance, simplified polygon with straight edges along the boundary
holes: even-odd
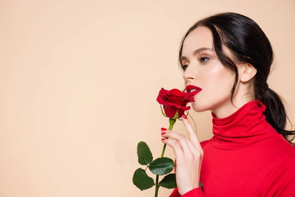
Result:
[[[266,116],[266,121],[280,134],[284,136],[284,138],[290,142],[293,146],[295,143],[292,140],[295,137],[295,131],[285,130],[287,125],[287,119],[291,123],[290,119],[287,116],[284,103],[286,101],[281,98],[276,92],[271,90],[270,88],[266,88],[265,96],[262,99],[262,103],[266,105],[266,111],[264,115]],[[289,136],[293,135],[292,139],[289,139]]]

